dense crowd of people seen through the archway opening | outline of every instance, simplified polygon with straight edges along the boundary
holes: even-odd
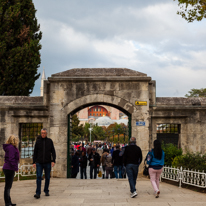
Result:
[[[102,178],[123,178],[123,152],[126,145],[109,143],[86,144],[75,143],[72,146],[71,177],[87,179],[87,166],[90,167],[90,179],[96,179],[98,174]]]

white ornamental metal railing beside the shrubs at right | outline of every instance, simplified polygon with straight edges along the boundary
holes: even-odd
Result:
[[[206,188],[206,173],[199,170],[189,170],[164,166],[161,174],[161,179],[167,179],[175,182],[179,182],[179,187],[182,183],[192,185],[195,187]]]

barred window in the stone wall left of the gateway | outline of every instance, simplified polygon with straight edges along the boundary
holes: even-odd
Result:
[[[19,150],[21,158],[32,158],[34,145],[38,135],[41,134],[43,123],[21,123],[19,127]]]

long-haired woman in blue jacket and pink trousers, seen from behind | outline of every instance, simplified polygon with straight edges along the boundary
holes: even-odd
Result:
[[[147,154],[147,164],[149,165],[150,181],[156,198],[158,198],[160,194],[159,178],[163,170],[164,159],[165,153],[161,148],[161,143],[159,140],[155,140],[154,148]]]

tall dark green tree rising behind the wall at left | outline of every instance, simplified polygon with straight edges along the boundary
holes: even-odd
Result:
[[[40,74],[42,33],[32,0],[0,1],[0,95],[28,96]]]

